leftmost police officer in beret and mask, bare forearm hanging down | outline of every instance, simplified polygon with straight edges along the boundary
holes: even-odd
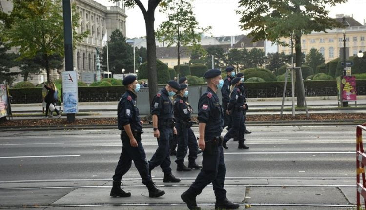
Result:
[[[142,121],[140,121],[139,109],[136,106],[136,93],[140,90],[140,84],[135,76],[129,75],[123,79],[123,85],[126,88],[126,92],[122,95],[117,110],[118,129],[122,130],[121,140],[123,146],[120,160],[113,176],[113,187],[110,196],[131,196],[130,192],[125,192],[121,189],[121,180],[122,176],[131,168],[133,161],[140,173],[142,183],[149,190],[149,196],[160,197],[165,192],[156,188],[149,175],[149,164],[141,143]]]

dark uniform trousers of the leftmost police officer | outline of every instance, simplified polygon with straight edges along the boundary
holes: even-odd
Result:
[[[151,176],[149,175],[149,164],[146,160],[146,154],[141,143],[141,134],[136,135],[137,147],[132,147],[130,139],[127,134],[121,134],[122,152],[120,160],[118,161],[113,180],[121,181],[122,176],[131,168],[132,161],[135,163],[137,170],[140,173],[143,184],[151,183]]]

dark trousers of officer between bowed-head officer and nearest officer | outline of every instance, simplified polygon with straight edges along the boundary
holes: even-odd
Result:
[[[196,136],[190,127],[182,127],[181,123],[177,121],[175,125],[177,135],[177,164],[184,162],[184,157],[187,155],[187,148],[189,149],[188,161],[194,161],[197,158],[198,144]]]

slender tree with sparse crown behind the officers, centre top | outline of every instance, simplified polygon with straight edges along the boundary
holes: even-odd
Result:
[[[210,29],[200,28],[193,14],[192,1],[173,1],[161,11],[167,14],[167,21],[160,24],[156,37],[160,42],[166,42],[167,46],[177,45],[177,74],[180,75],[180,60],[183,53],[181,46],[200,42],[201,34]]]

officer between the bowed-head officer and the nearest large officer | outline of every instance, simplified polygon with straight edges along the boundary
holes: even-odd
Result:
[[[178,142],[177,160],[175,162],[177,163],[177,171],[190,171],[191,168],[200,169],[202,166],[196,164],[198,144],[197,138],[191,129],[193,125],[191,122],[192,109],[190,109],[190,105],[187,102],[187,85],[179,85],[181,88],[174,100],[175,128],[177,129],[176,140]],[[187,155],[188,148],[188,167],[186,167],[184,165],[184,158]]]

